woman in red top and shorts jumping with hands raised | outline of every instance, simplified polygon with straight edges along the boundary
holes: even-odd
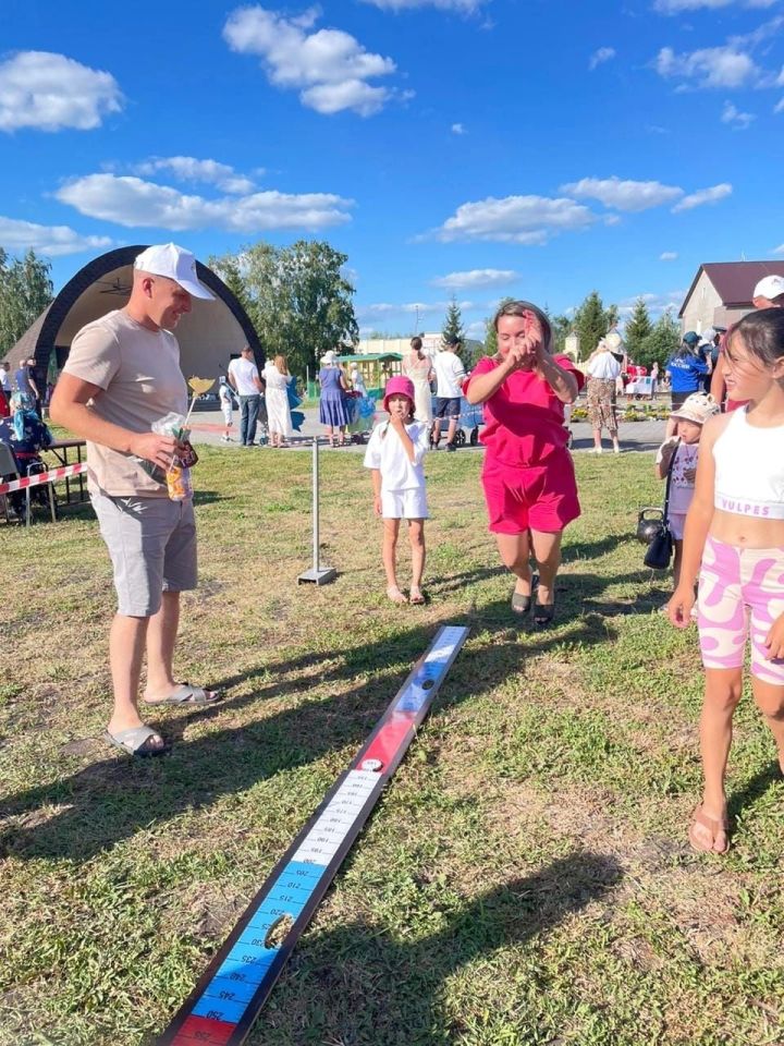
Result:
[[[493,326],[498,353],[479,361],[465,394],[485,404],[482,486],[490,531],[517,579],[512,609],[530,609],[532,550],[539,567],[534,621],[546,625],[555,609],[561,534],[580,514],[563,404],[575,401],[585,379],[568,356],[551,354],[550,324],[536,305],[509,302]]]

